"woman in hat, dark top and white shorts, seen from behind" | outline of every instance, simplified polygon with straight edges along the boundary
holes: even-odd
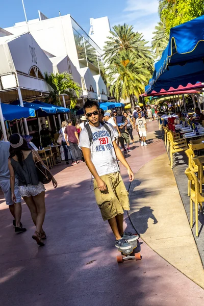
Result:
[[[45,217],[45,188],[39,182],[35,166],[37,160],[41,162],[42,160],[37,153],[35,153],[35,156],[33,155],[32,150],[28,147],[27,141],[19,134],[11,135],[9,140],[11,144],[9,158],[11,197],[13,201],[16,200],[14,191],[16,176],[19,182],[18,188],[20,195],[23,197],[25,203],[27,203],[33,222],[36,225],[36,231],[32,238],[38,245],[44,245],[42,240],[46,239],[46,235],[42,229],[42,225]],[[56,188],[57,182],[54,176],[52,181],[53,186]]]

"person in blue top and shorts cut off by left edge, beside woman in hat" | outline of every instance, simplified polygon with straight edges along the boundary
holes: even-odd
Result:
[[[22,227],[21,219],[21,195],[18,190],[18,180],[14,181],[14,190],[16,194],[15,202],[12,200],[11,196],[11,185],[10,185],[10,172],[9,172],[9,148],[10,143],[4,141],[3,133],[0,130],[0,187],[5,196],[6,204],[9,206],[9,211],[13,216],[13,225],[15,226],[15,233],[23,233],[26,228]]]

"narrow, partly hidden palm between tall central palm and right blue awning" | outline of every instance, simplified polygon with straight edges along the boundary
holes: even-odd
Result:
[[[156,58],[161,58],[162,52],[169,42],[169,36],[166,33],[166,27],[162,21],[158,22],[158,25],[156,25],[155,32],[153,32],[153,34],[154,37],[152,38],[151,42],[152,51],[155,52]]]

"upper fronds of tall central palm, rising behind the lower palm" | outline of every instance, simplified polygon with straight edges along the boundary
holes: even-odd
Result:
[[[134,32],[132,25],[129,26],[126,23],[115,25],[110,34],[104,47],[105,63],[112,64],[115,57],[121,51],[125,51],[133,53],[138,59],[143,59],[144,64],[152,68],[152,56],[149,47],[146,46],[147,41],[143,39],[141,33]]]

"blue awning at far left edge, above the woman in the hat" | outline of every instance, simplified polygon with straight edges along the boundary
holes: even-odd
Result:
[[[22,118],[35,117],[35,110],[20,106],[1,103],[4,121],[19,120]]]

